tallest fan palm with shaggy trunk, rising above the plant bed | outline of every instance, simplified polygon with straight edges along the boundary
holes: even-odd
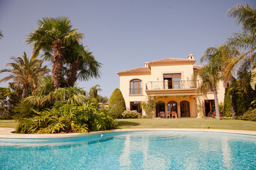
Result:
[[[53,54],[53,86],[60,88],[63,81],[63,64],[65,63],[65,47],[82,39],[83,34],[78,29],[72,29],[68,17],[42,18],[38,20],[38,28],[28,34],[26,42],[33,45],[33,56],[40,50],[46,54]],[[46,55],[48,57],[49,55]]]

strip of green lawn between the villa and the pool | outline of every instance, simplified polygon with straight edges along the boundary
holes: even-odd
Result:
[[[211,128],[230,130],[256,130],[256,122],[245,120],[215,118],[179,118],[179,119],[119,119],[121,129],[134,128]]]

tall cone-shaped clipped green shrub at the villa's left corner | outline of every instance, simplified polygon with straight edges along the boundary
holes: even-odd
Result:
[[[114,89],[110,96],[110,111],[114,118],[122,118],[122,113],[126,109],[124,97],[119,89]]]

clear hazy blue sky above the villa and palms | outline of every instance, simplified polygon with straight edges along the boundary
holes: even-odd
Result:
[[[43,17],[68,16],[96,60],[103,64],[100,79],[79,82],[89,91],[99,84],[102,96],[119,88],[117,72],[144,67],[144,62],[195,55],[196,64],[206,48],[225,42],[241,30],[226,13],[242,0],[0,0],[0,69],[10,57],[31,55],[24,42]],[[0,74],[0,79],[7,74]],[[0,86],[8,86],[2,82]]]

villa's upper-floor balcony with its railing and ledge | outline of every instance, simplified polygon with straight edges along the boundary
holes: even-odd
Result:
[[[198,85],[198,81],[196,81]],[[196,95],[196,86],[191,80],[149,81],[146,83],[146,94],[151,96],[186,96]]]

